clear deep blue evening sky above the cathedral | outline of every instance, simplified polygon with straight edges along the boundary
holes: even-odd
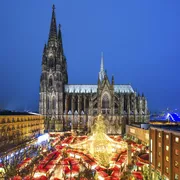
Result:
[[[180,108],[179,0],[2,0],[0,108],[38,110],[52,4],[62,25],[70,84],[131,83],[151,111]]]

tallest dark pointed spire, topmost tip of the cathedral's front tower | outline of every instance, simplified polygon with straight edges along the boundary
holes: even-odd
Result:
[[[56,26],[55,5],[53,4],[51,26],[49,31],[49,41],[54,41],[56,39],[57,39],[57,26]]]

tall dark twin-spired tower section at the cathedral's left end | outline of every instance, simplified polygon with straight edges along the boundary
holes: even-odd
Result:
[[[61,118],[64,112],[64,85],[68,82],[67,64],[64,56],[61,28],[56,27],[55,6],[47,45],[42,57],[40,79],[39,113],[45,116],[46,130],[61,130]]]

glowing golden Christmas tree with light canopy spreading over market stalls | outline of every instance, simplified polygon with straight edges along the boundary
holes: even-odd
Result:
[[[100,165],[109,166],[110,160],[114,152],[120,152],[127,149],[127,143],[124,141],[115,141],[105,134],[106,125],[102,115],[95,118],[95,123],[92,126],[92,135],[86,140],[69,144],[71,148],[81,149],[82,151],[90,152]],[[75,156],[80,158],[79,156]]]

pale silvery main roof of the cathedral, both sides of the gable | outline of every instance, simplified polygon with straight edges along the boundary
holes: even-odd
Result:
[[[65,92],[66,93],[96,93],[97,92],[97,85],[65,85]],[[131,85],[114,85],[114,91],[120,93],[134,93],[133,88]]]

